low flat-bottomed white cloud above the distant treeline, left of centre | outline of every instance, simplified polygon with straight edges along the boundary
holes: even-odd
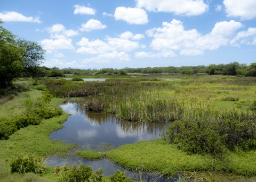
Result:
[[[130,55],[125,53],[125,52],[119,52],[118,51],[113,51],[111,53],[103,53],[98,55],[97,57],[91,57],[91,58],[86,58],[82,61],[82,63],[90,63],[90,62],[95,62],[95,63],[109,63],[110,60],[116,60],[116,62],[124,62],[124,61],[130,61]]]

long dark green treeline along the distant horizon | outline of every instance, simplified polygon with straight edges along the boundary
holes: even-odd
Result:
[[[78,68],[63,68],[58,67],[47,68],[41,67],[41,76],[65,76],[65,74],[73,75],[127,75],[127,73],[142,73],[142,74],[197,74],[206,73],[210,75],[237,75],[237,76],[256,76],[256,63],[250,65],[239,64],[237,62],[229,64],[211,64],[209,66],[168,66],[168,67],[145,67],[145,68],[129,68],[122,69],[102,68],[97,69],[78,69]]]

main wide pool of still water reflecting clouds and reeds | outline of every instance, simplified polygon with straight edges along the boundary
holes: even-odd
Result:
[[[114,115],[81,110],[76,102],[64,102],[60,107],[72,116],[68,117],[62,129],[50,135],[51,138],[91,145],[92,148],[102,142],[120,146],[156,139],[166,128],[164,123],[128,122]]]

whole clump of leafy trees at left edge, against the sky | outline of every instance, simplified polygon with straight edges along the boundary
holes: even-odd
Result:
[[[24,74],[37,77],[45,50],[34,41],[19,39],[1,24],[0,19],[0,83],[10,83]]]

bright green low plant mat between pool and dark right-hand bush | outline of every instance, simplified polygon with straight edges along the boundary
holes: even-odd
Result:
[[[83,157],[87,151],[80,151]],[[158,171],[168,176],[175,171],[224,171],[243,176],[256,176],[256,151],[229,152],[225,161],[209,155],[188,155],[175,145],[163,140],[141,141],[120,146],[106,152],[106,157],[120,166],[135,170],[143,165],[143,171]]]

